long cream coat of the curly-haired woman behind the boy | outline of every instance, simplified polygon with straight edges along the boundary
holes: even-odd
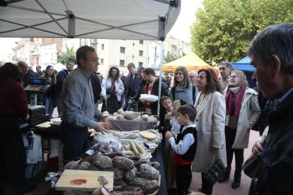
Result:
[[[200,100],[201,94],[200,92],[197,95],[195,107],[198,100]],[[212,147],[220,148],[221,162],[226,167],[225,116],[226,103],[223,95],[219,92],[209,93],[205,100],[203,100],[195,118],[197,151],[193,160],[193,172],[205,172],[207,170],[209,159],[212,156]],[[209,169],[212,168],[218,159],[218,155],[214,155]]]

